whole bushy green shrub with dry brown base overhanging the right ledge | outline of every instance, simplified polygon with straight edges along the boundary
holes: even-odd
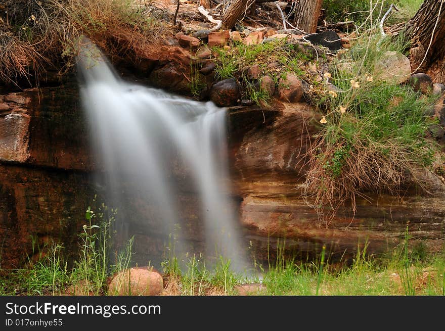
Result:
[[[323,207],[324,218],[346,200],[355,210],[355,198],[367,192],[397,194],[412,182],[424,185],[418,174],[437,151],[426,137],[432,120],[425,115],[435,98],[378,79],[374,64],[405,44],[378,38],[370,35],[358,42],[343,58],[346,70],[338,69],[338,62],[332,66],[330,83],[338,90],[320,101],[326,115],[309,151],[305,187],[306,197]]]

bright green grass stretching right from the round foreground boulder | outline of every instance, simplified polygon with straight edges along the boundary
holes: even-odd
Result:
[[[329,261],[325,247],[313,261],[286,258],[283,241],[276,258],[265,267],[256,265],[257,273],[249,276],[233,273],[229,260],[220,258],[208,268],[202,255],[188,255],[182,271],[170,274],[171,269],[164,268],[168,279],[164,294],[237,295],[241,284],[261,283],[264,291],[248,295],[445,295],[445,248],[442,253],[427,254],[424,243],[414,243],[408,233],[398,246],[378,257],[368,254],[367,244],[359,246],[348,265]]]

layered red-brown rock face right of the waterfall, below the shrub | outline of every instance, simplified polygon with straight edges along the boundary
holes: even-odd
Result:
[[[255,242],[256,257],[268,251],[275,261],[284,245],[287,254],[305,260],[326,246],[333,261],[348,262],[365,247],[379,254],[400,245],[407,226],[413,245],[421,240],[440,251],[445,238],[440,181],[435,197],[418,195],[414,187],[403,197],[374,194],[358,199],[355,213],[345,205],[328,224],[319,219],[317,209],[302,198],[307,161],[302,156],[317,132],[313,115],[305,104],[231,113],[235,191],[242,197],[240,219],[246,237]]]

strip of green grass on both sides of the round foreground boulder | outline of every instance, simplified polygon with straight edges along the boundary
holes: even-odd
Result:
[[[416,245],[408,245],[408,232],[405,241],[387,255],[369,255],[366,245],[358,249],[348,266],[339,266],[326,258],[322,251],[319,259],[299,262],[284,257],[284,245],[278,250],[277,258],[269,261],[268,267],[257,266],[255,275],[234,273],[230,260],[219,258],[211,268],[207,267],[201,255],[187,255],[184,267],[177,266],[177,259],[163,263],[165,290],[163,295],[237,295],[236,287],[245,283],[262,283],[265,290],[249,295],[445,295],[445,249],[440,254],[419,254]],[[106,295],[106,289],[90,285],[82,272],[67,269],[60,259],[62,247],[53,246],[50,253],[26,269],[2,270],[0,272],[0,295],[59,295],[70,285],[82,286],[82,291],[90,295]],[[131,242],[116,259],[112,272],[129,267]],[[420,258],[422,257],[422,258]],[[80,262],[84,262],[82,258]],[[96,272],[90,267],[87,279],[94,280]],[[99,278],[100,279],[100,278]],[[85,289],[86,287],[86,289]],[[77,293],[78,295],[78,293]]]

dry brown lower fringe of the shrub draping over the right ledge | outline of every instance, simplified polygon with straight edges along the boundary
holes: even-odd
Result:
[[[329,225],[338,209],[350,202],[355,213],[356,199],[369,199],[367,193],[390,193],[395,196],[409,184],[416,183],[426,191],[419,174],[422,168],[409,159],[409,153],[391,141],[385,145],[358,140],[338,165],[341,171],[334,174],[327,166],[341,144],[325,143],[325,135],[311,144],[306,153],[309,170],[303,186],[303,196],[314,207],[321,223]],[[386,153],[382,153],[386,151]]]

